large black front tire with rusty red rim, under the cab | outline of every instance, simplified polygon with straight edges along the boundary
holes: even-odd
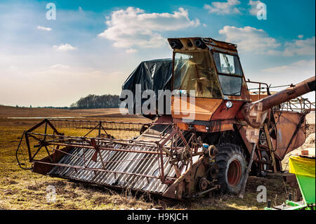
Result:
[[[218,152],[215,162],[218,164],[218,184],[223,193],[239,193],[246,170],[246,159],[242,149],[232,143],[216,146]]]

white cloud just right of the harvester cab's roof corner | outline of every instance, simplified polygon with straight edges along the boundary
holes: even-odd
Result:
[[[280,45],[276,39],[269,37],[263,29],[254,27],[225,26],[220,29],[219,33],[225,35],[226,41],[237,44],[240,51],[267,54]]]

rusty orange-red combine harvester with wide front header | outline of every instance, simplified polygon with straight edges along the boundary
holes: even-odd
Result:
[[[23,133],[16,151],[20,166],[172,199],[238,193],[247,166],[256,176],[282,171],[284,156],[305,142],[305,115],[315,103],[299,97],[315,91],[315,76],[272,94],[267,84],[246,81],[235,44],[211,38],[169,44],[170,89],[195,95],[172,95],[171,114],[151,114],[156,118],[148,124],[44,119]],[[247,83],[258,91],[251,93]],[[190,107],[178,107],[183,103]],[[195,119],[186,119],[187,113]],[[60,129],[89,131],[73,136]],[[117,138],[117,131],[138,136]],[[20,162],[23,150],[32,167]]]

